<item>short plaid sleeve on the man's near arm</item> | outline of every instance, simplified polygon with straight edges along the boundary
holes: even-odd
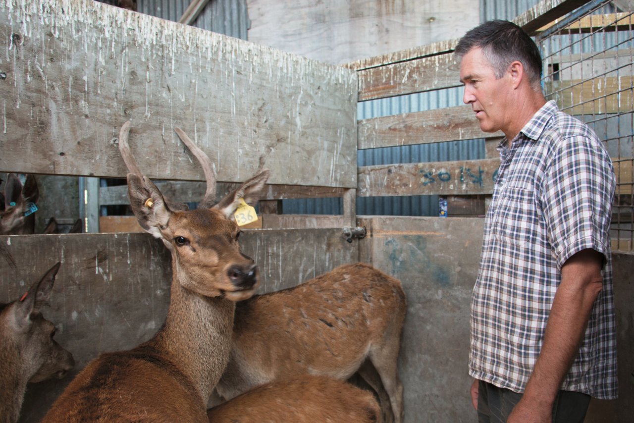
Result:
[[[609,256],[616,177],[600,141],[585,135],[560,140],[546,175],[541,202],[559,270],[583,249]]]

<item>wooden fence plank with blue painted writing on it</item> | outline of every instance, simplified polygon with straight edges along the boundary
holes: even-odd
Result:
[[[500,159],[359,167],[359,197],[493,193]]]

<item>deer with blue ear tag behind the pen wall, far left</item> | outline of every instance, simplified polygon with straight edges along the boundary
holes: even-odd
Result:
[[[27,174],[24,185],[14,173],[7,176],[4,192],[0,192],[0,235],[35,233],[39,189],[35,176]]]

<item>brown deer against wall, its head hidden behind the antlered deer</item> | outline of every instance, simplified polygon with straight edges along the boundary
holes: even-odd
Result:
[[[245,299],[236,304],[230,358],[216,392],[231,400],[276,379],[346,380],[358,372],[377,392],[384,420],[402,422],[397,360],[406,309],[401,282],[365,263]]]

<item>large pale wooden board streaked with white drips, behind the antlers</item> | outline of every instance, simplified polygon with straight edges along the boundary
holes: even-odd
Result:
[[[353,70],[96,1],[0,2],[0,171],[123,177],[120,126],[150,178],[354,188]],[[289,160],[302,166],[289,166]]]

